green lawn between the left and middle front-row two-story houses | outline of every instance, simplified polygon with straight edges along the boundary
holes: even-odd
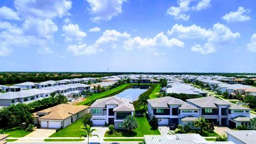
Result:
[[[138,128],[134,130],[134,133],[126,133],[125,130],[117,130],[117,133],[108,135],[105,134],[105,137],[143,137],[144,135],[157,135],[160,134],[159,130],[151,130],[151,127],[148,123],[147,118],[144,117],[135,117],[138,121]]]

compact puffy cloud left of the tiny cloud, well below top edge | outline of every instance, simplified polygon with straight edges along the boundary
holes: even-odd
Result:
[[[87,34],[82,31],[77,24],[64,25],[62,27],[62,31],[64,32],[64,34],[62,34],[61,36],[65,36],[66,42],[72,42],[73,39],[76,39],[77,41],[82,41],[82,39],[87,36]]]

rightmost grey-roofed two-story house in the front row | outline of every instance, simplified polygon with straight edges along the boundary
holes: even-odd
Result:
[[[199,116],[212,121],[215,125],[228,125],[236,127],[246,125],[249,129],[250,108],[235,105],[226,100],[214,97],[188,99],[187,102],[199,108]]]

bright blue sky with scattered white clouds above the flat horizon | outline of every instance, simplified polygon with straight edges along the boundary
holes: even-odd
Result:
[[[256,73],[255,0],[1,0],[0,71]]]

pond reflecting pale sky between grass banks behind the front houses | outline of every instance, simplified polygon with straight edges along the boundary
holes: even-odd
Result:
[[[121,93],[116,94],[116,97],[120,98],[126,98],[126,99],[131,99],[132,101],[137,100],[139,95],[142,94],[143,92],[147,91],[149,88],[148,85],[134,85],[132,88],[124,90]]]

